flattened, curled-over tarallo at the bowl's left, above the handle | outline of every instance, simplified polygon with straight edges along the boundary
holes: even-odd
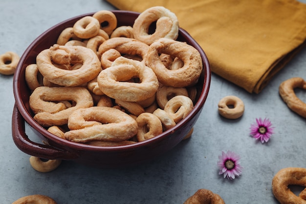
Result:
[[[70,108],[60,101],[76,102]],[[56,103],[58,102],[58,103]],[[83,87],[47,87],[40,86],[30,95],[29,104],[36,122],[42,126],[63,125],[76,109],[93,106],[93,100]]]

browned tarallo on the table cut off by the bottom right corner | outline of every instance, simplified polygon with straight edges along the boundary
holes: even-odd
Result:
[[[273,195],[281,204],[306,204],[306,189],[297,196],[290,190],[289,185],[306,187],[306,168],[283,168],[272,180]]]

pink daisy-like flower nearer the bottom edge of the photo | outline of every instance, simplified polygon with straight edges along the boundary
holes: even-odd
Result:
[[[219,175],[223,174],[224,178],[235,179],[235,176],[239,176],[242,172],[242,167],[240,166],[240,156],[232,151],[227,151],[219,156],[218,166]]]

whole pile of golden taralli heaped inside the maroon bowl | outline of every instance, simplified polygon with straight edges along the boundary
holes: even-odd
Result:
[[[108,10],[77,20],[25,69],[34,120],[62,139],[97,146],[172,128],[193,109],[203,69],[198,50],[176,41],[178,31],[175,14],[161,6],[133,26],[117,27]]]

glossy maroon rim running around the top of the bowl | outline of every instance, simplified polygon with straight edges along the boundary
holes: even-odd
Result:
[[[116,14],[124,14],[124,15],[129,15],[132,17],[138,16],[140,13],[138,12],[132,12],[132,11],[123,11],[123,10],[111,10],[111,12],[113,12],[115,15]],[[125,149],[130,149],[130,148],[137,148],[137,147],[143,147],[145,145],[148,144],[153,144],[153,143],[157,143],[160,140],[162,140],[163,138],[167,137],[167,135],[175,132],[176,130],[178,130],[180,128],[180,126],[184,125],[185,123],[187,123],[188,121],[190,121],[192,118],[194,118],[197,115],[198,111],[201,111],[208,93],[209,93],[209,88],[210,88],[210,82],[211,82],[211,68],[210,68],[210,64],[209,61],[207,59],[207,56],[205,54],[205,52],[203,51],[203,49],[201,48],[201,46],[197,43],[197,41],[195,41],[192,36],[185,31],[183,28],[179,28],[179,35],[182,35],[183,37],[188,37],[189,40],[193,43],[193,46],[199,51],[201,58],[202,58],[202,62],[203,62],[203,71],[201,74],[204,74],[204,82],[203,82],[203,87],[202,87],[202,91],[199,95],[199,98],[196,102],[196,104],[194,105],[194,108],[192,109],[192,111],[188,114],[188,117],[184,118],[183,120],[181,120],[180,122],[178,122],[174,127],[164,131],[163,133],[161,133],[158,136],[155,136],[151,139],[142,141],[142,142],[137,142],[137,143],[132,143],[132,144],[125,144],[125,145],[118,145],[118,146],[94,146],[94,145],[89,145],[89,144],[84,144],[84,143],[74,143],[74,142],[70,142],[67,141],[65,139],[62,139],[60,137],[57,137],[55,135],[53,135],[52,133],[48,132],[44,127],[42,127],[40,124],[38,124],[33,117],[30,115],[30,113],[28,113],[27,109],[25,108],[24,103],[22,102],[22,93],[20,93],[19,91],[19,79],[21,77],[21,71],[22,71],[22,65],[24,63],[24,61],[26,60],[26,56],[30,53],[31,49],[33,49],[33,47],[36,45],[36,43],[38,41],[41,41],[51,30],[66,24],[69,21],[73,21],[73,20],[77,20],[80,19],[84,16],[88,16],[88,15],[93,15],[95,12],[92,13],[86,13],[86,14],[82,14],[82,15],[78,15],[72,18],[69,18],[67,20],[64,20],[62,22],[59,22],[55,25],[53,25],[52,27],[48,28],[47,30],[45,30],[42,34],[40,34],[34,41],[32,41],[29,46],[25,49],[25,51],[23,52],[20,61],[17,65],[15,74],[14,74],[14,78],[13,78],[13,92],[14,92],[14,98],[15,98],[15,103],[18,107],[19,112],[21,113],[22,117],[24,118],[25,122],[27,122],[32,128],[34,128],[36,131],[38,131],[40,134],[43,135],[43,137],[45,137],[48,140],[51,140],[54,143],[59,144],[60,146],[65,146],[65,148],[73,148],[73,149],[78,149],[78,150],[97,150],[97,151],[118,151],[118,150],[122,150],[124,151]],[[205,67],[205,68],[204,68]]]

